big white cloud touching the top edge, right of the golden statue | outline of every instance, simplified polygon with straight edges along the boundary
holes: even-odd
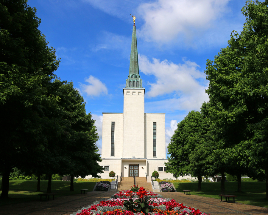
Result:
[[[145,24],[141,34],[146,39],[167,42],[178,34],[191,36],[193,31],[205,31],[226,11],[230,0],[158,0],[138,8]]]

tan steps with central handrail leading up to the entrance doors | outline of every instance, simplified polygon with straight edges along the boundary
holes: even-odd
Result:
[[[133,183],[133,177],[122,177],[122,181],[118,183],[117,191],[130,190],[134,185]],[[145,177],[136,177],[136,184],[139,188],[143,187],[147,191],[152,191],[152,185],[150,182],[146,182]]]

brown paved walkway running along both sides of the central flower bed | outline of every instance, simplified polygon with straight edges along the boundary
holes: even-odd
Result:
[[[69,215],[82,207],[91,205],[101,198],[109,198],[115,192],[88,192],[70,196],[55,196],[55,200],[33,201],[0,207],[0,214],[4,215]],[[192,208],[199,209],[202,213],[211,215],[267,215],[268,208],[244,205],[240,203],[221,202],[220,199],[184,195],[183,193],[160,193],[164,198],[172,198],[177,202]]]

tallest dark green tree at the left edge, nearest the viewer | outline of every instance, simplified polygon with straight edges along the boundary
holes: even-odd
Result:
[[[45,148],[40,105],[57,100],[47,95],[47,85],[59,61],[27,1],[1,1],[0,11],[1,198],[7,198],[11,169]]]

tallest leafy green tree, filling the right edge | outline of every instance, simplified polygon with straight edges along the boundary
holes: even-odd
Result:
[[[264,169],[268,198],[267,6],[267,0],[246,2],[243,31],[231,34],[206,73],[216,152],[240,173],[245,166]]]

